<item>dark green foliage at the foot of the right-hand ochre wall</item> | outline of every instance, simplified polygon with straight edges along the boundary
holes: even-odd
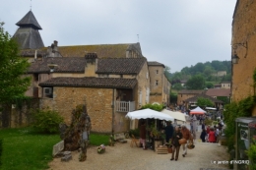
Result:
[[[239,102],[231,102],[224,107],[224,122],[226,128],[224,134],[227,138],[227,148],[228,151],[233,149],[233,144],[235,143],[235,119],[238,117],[250,117],[253,107],[255,106],[255,97],[248,96],[240,100]]]

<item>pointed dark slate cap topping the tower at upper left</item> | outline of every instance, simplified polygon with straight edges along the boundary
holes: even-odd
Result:
[[[35,29],[42,29],[40,25],[37,23],[35,17],[33,16],[32,11],[29,11],[29,13],[27,13],[26,16],[16,25],[21,28],[30,27]]]

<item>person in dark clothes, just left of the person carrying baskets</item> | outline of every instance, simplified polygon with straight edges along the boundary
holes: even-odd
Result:
[[[172,155],[171,155],[171,158],[170,160],[173,160],[174,159],[174,154],[175,154],[175,160],[177,161],[178,160],[178,154],[179,154],[179,148],[180,148],[180,144],[179,144],[179,140],[182,139],[182,134],[179,130],[179,127],[176,126],[175,127],[175,132],[172,136],[172,139],[171,139],[171,143],[172,143]]]

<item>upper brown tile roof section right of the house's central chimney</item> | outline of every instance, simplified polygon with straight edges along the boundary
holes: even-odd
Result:
[[[98,59],[96,73],[124,75],[139,74],[145,62],[147,62],[147,59],[144,57]]]

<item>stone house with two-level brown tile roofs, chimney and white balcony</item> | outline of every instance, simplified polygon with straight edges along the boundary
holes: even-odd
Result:
[[[57,65],[53,72],[50,63]],[[150,78],[144,57],[98,59],[96,53],[47,57],[33,62],[28,74],[33,78],[28,95],[37,90],[40,107],[59,111],[69,123],[72,109],[86,103],[95,132],[127,131],[126,113],[149,102]]]

